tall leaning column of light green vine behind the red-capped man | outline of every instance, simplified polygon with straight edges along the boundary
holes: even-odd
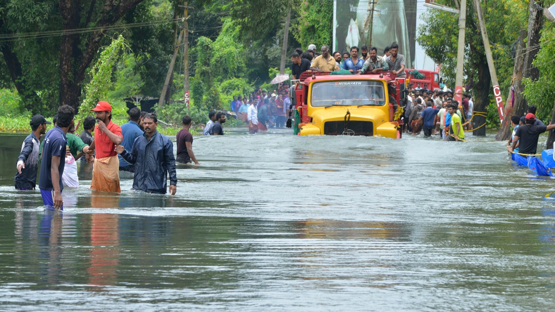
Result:
[[[112,44],[100,53],[100,57],[90,70],[92,79],[85,86],[85,99],[79,109],[80,120],[92,115],[90,109],[93,109],[98,101],[108,99],[108,92],[112,85],[112,71],[120,54],[124,53],[125,47],[127,47],[125,39],[122,35],[119,35],[117,39],[112,40]]]

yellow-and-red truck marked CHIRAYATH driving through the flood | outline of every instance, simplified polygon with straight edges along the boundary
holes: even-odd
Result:
[[[408,81],[393,71],[362,75],[305,71],[293,81],[295,134],[400,139]]]

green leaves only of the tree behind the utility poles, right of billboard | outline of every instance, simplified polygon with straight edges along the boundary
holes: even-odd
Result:
[[[452,0],[438,4],[455,7]],[[512,44],[518,39],[518,30],[526,25],[527,4],[517,0],[491,0],[482,5],[490,47],[497,69],[501,90],[508,90],[514,62]],[[458,40],[458,16],[438,9],[428,9],[422,14],[424,23],[418,28],[416,38],[427,55],[441,64],[441,73],[448,86],[455,86]],[[469,83],[478,83],[478,70],[485,59],[478,18],[472,2],[467,2],[465,42],[465,77]],[[485,69],[487,70],[487,68]],[[472,85],[471,85],[472,88]],[[490,90],[490,92],[493,92]]]

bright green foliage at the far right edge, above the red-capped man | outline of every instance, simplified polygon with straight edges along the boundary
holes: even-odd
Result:
[[[555,100],[555,71],[553,71],[553,59],[555,59],[555,31],[553,27],[542,30],[539,40],[541,48],[534,60],[534,66],[539,69],[539,79],[532,81],[523,79],[524,96],[529,105],[536,105],[536,116],[547,124],[551,120],[553,101]]]

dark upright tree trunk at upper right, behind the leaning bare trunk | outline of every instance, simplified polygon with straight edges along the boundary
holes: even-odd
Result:
[[[541,7],[543,6],[543,1],[534,2],[530,1],[529,5],[529,15],[528,15],[528,42],[526,43],[526,53],[524,55],[524,68],[522,70],[523,78],[530,78],[532,80],[537,80],[539,78],[539,70],[532,66],[532,62],[536,59],[536,54],[539,51],[539,31],[543,27],[542,17],[543,11]],[[523,116],[526,113],[528,103],[522,92],[524,91],[524,84],[522,80],[515,81],[514,84],[514,105],[513,114],[518,116]]]

